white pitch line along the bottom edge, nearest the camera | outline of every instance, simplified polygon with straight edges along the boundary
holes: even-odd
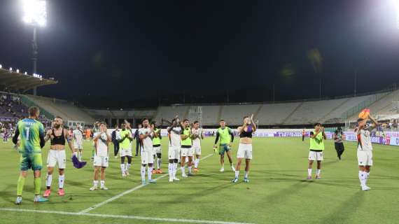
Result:
[[[45,210],[33,210],[33,209],[8,209],[0,208],[0,211],[17,211],[17,212],[32,212],[40,214],[60,214],[69,216],[94,216],[101,218],[125,218],[125,219],[138,219],[147,221],[162,221],[162,222],[178,222],[178,223],[206,223],[206,224],[252,224],[252,223],[235,223],[227,221],[207,221],[197,219],[183,219],[183,218],[156,218],[146,216],[118,216],[118,215],[106,215],[106,214],[92,214],[92,213],[78,213],[78,212],[67,212],[67,211],[45,211]]]

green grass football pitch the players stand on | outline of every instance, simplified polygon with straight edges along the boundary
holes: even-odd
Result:
[[[162,168],[157,183],[141,186],[139,158],[133,158],[130,177],[122,179],[120,158],[110,157],[106,169],[109,190],[92,186],[92,146],[85,141],[83,169],[67,163],[64,197],[57,196],[53,174],[50,201],[33,203],[33,173],[25,181],[23,202],[16,206],[19,155],[9,141],[0,142],[0,223],[398,223],[399,147],[374,144],[374,167],[360,190],[356,144],[345,142],[343,160],[336,160],[332,141],[325,144],[320,180],[307,181],[309,139],[254,138],[250,183],[231,183],[228,162],[219,172],[214,138],[202,142],[200,172],[169,183],[167,139],[162,139]],[[238,141],[233,146],[236,161]],[[43,149],[43,165],[49,144]],[[113,147],[111,146],[113,149]],[[67,149],[69,151],[69,149]],[[113,152],[111,152],[112,154]],[[68,153],[69,155],[70,153]],[[69,156],[70,157],[70,156]],[[228,160],[226,160],[228,161]],[[316,167],[314,167],[315,173]],[[42,193],[45,167],[42,169]],[[313,175],[314,176],[314,175]]]

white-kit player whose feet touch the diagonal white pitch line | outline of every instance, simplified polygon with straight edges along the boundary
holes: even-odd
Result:
[[[141,140],[141,183],[146,184],[146,166],[148,183],[155,183],[151,178],[153,172],[153,128],[147,118],[143,119],[143,127],[139,130]]]

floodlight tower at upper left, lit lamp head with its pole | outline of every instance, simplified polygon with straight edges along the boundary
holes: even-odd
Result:
[[[22,20],[33,27],[32,61],[33,73],[36,74],[38,57],[36,29],[37,27],[45,27],[47,24],[46,2],[44,0],[22,0],[22,7],[24,12]],[[33,93],[36,95],[36,87],[34,87]]]

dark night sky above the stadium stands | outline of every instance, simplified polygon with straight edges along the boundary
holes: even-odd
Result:
[[[31,71],[20,1],[0,0],[0,64]],[[399,81],[390,0],[48,1],[38,94],[95,107],[261,102],[381,90]],[[323,58],[316,73],[308,52]]]

